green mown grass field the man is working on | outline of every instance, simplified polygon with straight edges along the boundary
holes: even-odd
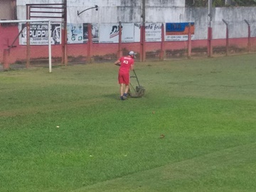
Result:
[[[136,63],[126,101],[113,63],[1,72],[0,191],[255,191],[255,60]]]

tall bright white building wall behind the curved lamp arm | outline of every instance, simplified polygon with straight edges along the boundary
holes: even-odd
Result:
[[[17,0],[18,19],[26,18],[26,4],[61,3],[63,3],[62,0]],[[67,5],[68,23],[117,23],[118,21],[125,23],[142,21],[142,0],[68,0]],[[95,5],[99,6],[99,11],[90,9],[78,16],[78,11],[83,11]],[[183,14],[184,7],[185,0],[146,0],[146,21],[164,22],[163,19],[166,18],[179,18],[179,15]]]

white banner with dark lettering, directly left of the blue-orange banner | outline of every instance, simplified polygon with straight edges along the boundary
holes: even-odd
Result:
[[[134,24],[134,42],[140,42],[141,24]],[[146,42],[161,41],[161,23],[145,23]]]

